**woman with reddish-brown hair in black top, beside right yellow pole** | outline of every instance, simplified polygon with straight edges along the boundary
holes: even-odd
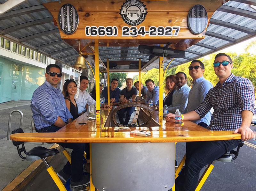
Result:
[[[175,75],[170,75],[165,78],[164,92],[166,94],[163,104],[170,106],[172,105],[172,94],[176,91]]]

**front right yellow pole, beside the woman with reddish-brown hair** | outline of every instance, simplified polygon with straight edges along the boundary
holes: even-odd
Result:
[[[161,47],[164,45],[161,44]],[[158,117],[159,120],[163,119],[163,80],[164,80],[164,63],[162,63],[163,57],[159,56],[159,106],[158,106]]]

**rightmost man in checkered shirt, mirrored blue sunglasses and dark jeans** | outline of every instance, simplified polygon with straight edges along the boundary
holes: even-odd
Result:
[[[245,141],[253,138],[250,124],[254,114],[254,88],[251,81],[231,73],[232,60],[225,53],[217,54],[213,65],[220,81],[209,90],[199,107],[183,115],[184,120],[198,120],[213,107],[214,119],[208,129],[234,130],[234,133],[241,133]],[[174,121],[174,114],[168,114],[166,120]],[[176,191],[194,191],[201,169],[240,143],[241,139],[187,142],[185,167],[176,179]]]

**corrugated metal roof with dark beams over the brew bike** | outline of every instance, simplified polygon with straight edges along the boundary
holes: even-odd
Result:
[[[6,1],[0,0],[0,3]],[[42,5],[47,2],[52,0],[27,0],[0,15],[0,33],[57,61],[73,65],[78,53],[60,38],[51,13]],[[205,38],[189,47],[185,58],[175,58],[169,67],[256,36],[256,10],[250,5],[256,6],[255,0],[233,0],[222,5],[210,19]],[[26,13],[28,8],[34,11]],[[25,14],[20,15],[20,11],[25,11]],[[99,55],[103,62],[106,62],[107,58],[109,61],[138,61],[139,58],[142,62],[149,61],[149,55],[139,53],[138,47],[99,47]],[[164,66],[167,66],[171,59],[166,60]],[[88,61],[93,62],[93,56],[89,55]],[[158,67],[156,58],[146,69],[154,67]]]

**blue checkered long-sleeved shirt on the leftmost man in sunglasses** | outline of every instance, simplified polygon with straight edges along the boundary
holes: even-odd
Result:
[[[53,87],[47,81],[33,93],[30,107],[36,129],[52,125],[57,121],[58,116],[64,122],[67,122],[69,118],[73,119],[66,107],[65,99],[60,89]]]

